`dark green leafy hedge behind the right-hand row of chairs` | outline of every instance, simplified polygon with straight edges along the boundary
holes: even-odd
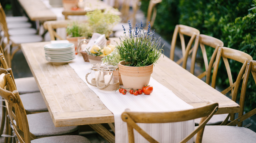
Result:
[[[149,0],[142,0],[141,10],[146,14]],[[224,42],[225,47],[243,51],[256,60],[256,0],[162,0],[157,7],[153,29],[171,42],[176,24],[188,25]],[[208,57],[212,48],[208,50]],[[168,55],[167,55],[168,56]],[[197,57],[200,59],[201,57]],[[241,68],[230,61],[234,78]],[[239,67],[239,68],[238,68]],[[227,87],[224,63],[220,63],[217,80],[219,87]],[[256,86],[253,77],[247,85],[245,111],[256,107]]]

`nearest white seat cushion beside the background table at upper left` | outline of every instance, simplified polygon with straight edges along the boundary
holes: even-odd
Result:
[[[41,42],[43,41],[43,38],[40,35],[14,35],[10,36],[10,40],[13,41],[15,44],[21,44],[21,43],[30,43],[30,42]]]

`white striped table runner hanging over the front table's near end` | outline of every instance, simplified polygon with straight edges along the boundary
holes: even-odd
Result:
[[[149,82],[149,84],[153,86],[153,93],[150,95],[141,94],[135,96],[130,94],[129,91],[126,95],[123,95],[119,93],[118,90],[116,92],[102,91],[97,87],[89,85],[86,82],[85,75],[90,72],[90,63],[84,62],[82,56],[76,55],[74,61],[69,63],[69,65],[88,87],[97,94],[102,103],[114,114],[116,143],[128,143],[127,125],[126,122],[123,122],[121,119],[121,114],[126,108],[132,111],[145,112],[179,111],[193,108],[153,78],[151,78]],[[90,77],[90,75],[88,77]],[[159,142],[176,143],[194,130],[194,120],[164,124],[139,123],[139,126]],[[134,134],[136,143],[147,142],[137,131],[135,131]],[[193,139],[190,139],[189,142],[193,142]]]

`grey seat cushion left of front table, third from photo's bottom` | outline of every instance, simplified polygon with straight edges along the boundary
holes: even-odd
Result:
[[[46,112],[47,106],[40,92],[20,95],[23,106],[29,112]]]

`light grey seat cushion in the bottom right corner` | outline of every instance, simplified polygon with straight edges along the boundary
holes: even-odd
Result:
[[[197,127],[196,127],[197,128]],[[194,141],[196,136],[194,136]],[[256,133],[237,126],[205,126],[203,143],[256,143]]]

